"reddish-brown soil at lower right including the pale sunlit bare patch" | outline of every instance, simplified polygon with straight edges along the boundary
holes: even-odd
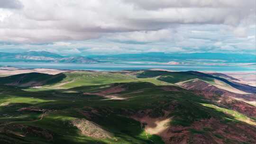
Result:
[[[168,117],[178,102],[172,104],[160,117],[151,117],[152,109],[140,110],[131,118],[139,121],[146,133],[159,135],[165,144],[256,144],[256,127],[246,123],[224,123],[216,118],[201,119],[190,126],[172,125]]]

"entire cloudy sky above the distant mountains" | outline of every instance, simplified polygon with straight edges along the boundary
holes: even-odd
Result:
[[[0,52],[256,53],[256,0],[0,0]]]

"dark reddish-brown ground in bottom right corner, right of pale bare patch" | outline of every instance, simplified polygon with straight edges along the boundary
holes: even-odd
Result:
[[[219,120],[203,119],[191,126],[169,126],[167,130],[157,134],[165,144],[256,144],[256,128],[246,124],[232,125]]]

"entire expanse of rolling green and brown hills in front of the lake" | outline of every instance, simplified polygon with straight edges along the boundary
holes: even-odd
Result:
[[[256,107],[218,93],[216,80],[162,71],[4,77],[0,143],[255,144]]]

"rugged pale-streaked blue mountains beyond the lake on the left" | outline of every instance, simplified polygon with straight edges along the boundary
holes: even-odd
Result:
[[[84,56],[62,56],[46,51],[24,53],[0,53],[1,62],[52,62],[52,63],[99,63],[98,60]]]

